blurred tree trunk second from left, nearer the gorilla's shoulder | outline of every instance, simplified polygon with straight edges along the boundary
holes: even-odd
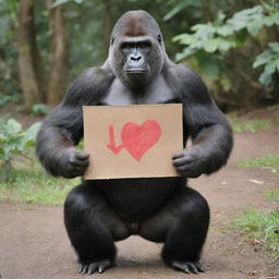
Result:
[[[57,106],[63,98],[66,85],[68,51],[62,5],[52,8],[53,0],[46,0],[51,34],[51,64],[48,81],[47,104]]]

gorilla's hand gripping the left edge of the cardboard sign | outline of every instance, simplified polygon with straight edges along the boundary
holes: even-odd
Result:
[[[89,155],[75,148],[66,148],[59,156],[61,175],[68,179],[83,175],[89,165]]]

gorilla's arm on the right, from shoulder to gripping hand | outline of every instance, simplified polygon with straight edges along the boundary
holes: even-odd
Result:
[[[173,156],[173,165],[185,177],[210,174],[226,165],[232,149],[232,130],[223,113],[207,93],[202,78],[189,68],[178,69],[182,85],[178,89],[183,104],[184,131],[193,146]]]

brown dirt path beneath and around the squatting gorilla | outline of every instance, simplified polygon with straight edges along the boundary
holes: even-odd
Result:
[[[227,168],[209,178],[190,181],[209,202],[211,226],[203,262],[206,274],[201,279],[267,278],[279,276],[272,263],[252,245],[220,232],[226,221],[247,206],[276,206],[265,202],[263,191],[279,186],[279,173],[238,168],[235,162],[279,151],[279,129],[257,134],[236,134],[233,155]],[[256,184],[250,180],[263,181]],[[0,274],[3,279],[77,279],[77,278],[197,278],[163,266],[161,245],[132,236],[119,242],[117,268],[102,275],[76,272],[73,250],[62,222],[61,207],[43,207],[0,203]],[[253,276],[254,274],[254,276]],[[1,278],[1,276],[0,276]]]

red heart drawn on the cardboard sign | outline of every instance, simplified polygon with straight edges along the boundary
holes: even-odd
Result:
[[[137,161],[158,142],[160,136],[161,128],[155,120],[147,120],[142,125],[128,122],[121,131],[123,146]]]

